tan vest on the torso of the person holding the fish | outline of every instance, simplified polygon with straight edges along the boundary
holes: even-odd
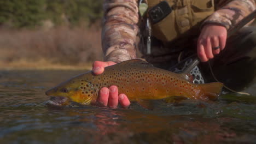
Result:
[[[162,0],[147,1],[150,9]],[[163,42],[179,38],[214,13],[213,0],[166,0],[166,2],[172,7],[172,12],[165,19],[152,25],[152,35]]]

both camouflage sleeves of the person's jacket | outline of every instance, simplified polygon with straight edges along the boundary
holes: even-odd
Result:
[[[255,0],[216,0],[216,11],[203,22],[229,29],[256,8]],[[138,0],[106,0],[103,4],[102,49],[104,61],[122,62],[137,58],[139,31]],[[232,13],[226,13],[229,9]]]

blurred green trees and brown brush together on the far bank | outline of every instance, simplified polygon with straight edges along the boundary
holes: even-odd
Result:
[[[0,0],[0,68],[101,61],[102,2]]]

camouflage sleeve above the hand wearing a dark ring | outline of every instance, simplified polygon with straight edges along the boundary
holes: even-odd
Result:
[[[243,17],[251,14],[255,8],[255,0],[219,0],[216,1],[217,11],[209,16],[203,22],[203,25],[206,23],[216,23],[229,29],[241,21]]]

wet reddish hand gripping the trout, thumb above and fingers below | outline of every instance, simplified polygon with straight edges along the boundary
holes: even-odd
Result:
[[[103,73],[104,68],[110,65],[117,64],[115,62],[100,62],[95,61],[92,65],[92,71],[95,75],[100,75]],[[103,106],[109,106],[113,109],[117,108],[118,102],[122,107],[127,107],[130,105],[130,100],[127,98],[125,94],[118,93],[117,86],[110,86],[109,88],[103,87],[99,92],[99,97],[97,102],[102,104]]]

